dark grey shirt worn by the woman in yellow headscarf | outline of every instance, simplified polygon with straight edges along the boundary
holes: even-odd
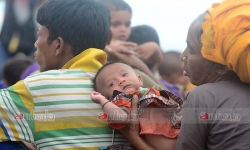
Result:
[[[219,81],[187,96],[176,150],[249,150],[250,85]]]

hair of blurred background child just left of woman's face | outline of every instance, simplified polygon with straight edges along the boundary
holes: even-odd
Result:
[[[158,70],[160,75],[171,76],[176,71],[182,69],[179,59],[180,53],[176,51],[165,52],[163,61],[159,64]]]

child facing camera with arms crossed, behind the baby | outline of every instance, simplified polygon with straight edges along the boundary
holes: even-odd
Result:
[[[155,84],[160,85],[161,83],[143,62],[145,59],[153,59],[152,57],[155,56],[153,55],[153,52],[149,54],[146,51],[149,51],[149,49],[155,51],[160,49],[157,43],[146,42],[143,45],[137,46],[136,43],[128,42],[127,40],[131,33],[131,7],[123,0],[102,1],[109,8],[111,17],[110,30],[112,33],[112,40],[105,48],[105,51],[108,54],[108,61],[121,60],[126,62],[133,68],[144,72],[148,76],[147,80],[145,79],[146,82],[151,78],[154,80]],[[161,60],[161,58],[156,58],[156,60]]]

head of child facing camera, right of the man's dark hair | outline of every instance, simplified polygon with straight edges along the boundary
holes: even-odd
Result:
[[[123,0],[103,0],[103,2],[110,11],[112,38],[126,41],[131,32],[131,7]]]

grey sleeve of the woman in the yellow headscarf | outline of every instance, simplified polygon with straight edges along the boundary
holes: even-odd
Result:
[[[191,92],[184,104],[181,130],[176,143],[176,150],[206,149],[209,118],[208,97],[206,93]]]

